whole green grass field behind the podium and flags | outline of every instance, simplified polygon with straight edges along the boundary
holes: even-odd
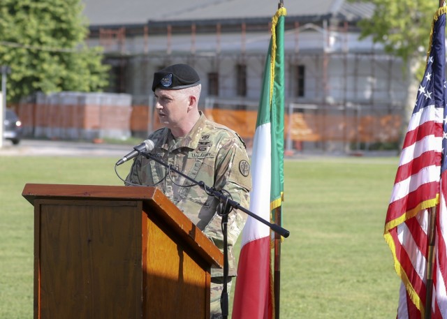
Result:
[[[24,184],[121,185],[115,162],[0,157],[0,318],[33,313],[34,221]],[[283,226],[291,235],[282,244],[281,318],[395,318],[400,281],[382,234],[396,168],[397,158],[286,161]]]

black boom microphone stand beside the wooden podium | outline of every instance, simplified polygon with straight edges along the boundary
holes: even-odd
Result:
[[[221,311],[222,311],[222,318],[226,319],[228,318],[228,290],[227,290],[227,279],[228,279],[228,232],[227,232],[227,224],[228,224],[228,214],[230,214],[232,209],[239,209],[240,211],[244,212],[245,214],[255,218],[257,221],[260,221],[261,223],[268,225],[268,227],[276,232],[277,234],[281,235],[282,237],[287,238],[288,235],[290,235],[290,232],[284,228],[282,228],[279,225],[276,225],[274,223],[270,223],[270,221],[266,221],[264,218],[261,218],[260,216],[252,213],[249,211],[249,209],[246,209],[242,207],[238,202],[235,202],[232,200],[228,195],[225,195],[222,193],[222,191],[217,191],[214,187],[209,187],[205,185],[203,181],[196,181],[196,179],[192,179],[191,177],[185,175],[184,173],[180,172],[179,170],[176,170],[173,168],[172,165],[166,164],[163,161],[159,160],[159,158],[156,158],[152,154],[146,152],[146,151],[140,151],[140,155],[145,156],[145,158],[150,158],[153,161],[156,161],[156,163],[159,163],[163,165],[164,167],[168,168],[168,172],[171,170],[173,172],[176,172],[177,174],[181,175],[185,179],[188,179],[193,184],[196,184],[200,188],[202,188],[205,193],[208,195],[212,195],[215,198],[221,202],[223,205],[222,214],[219,214],[219,216],[222,217],[222,235],[223,235],[223,290],[221,294]],[[223,190],[225,191],[225,190]],[[228,193],[226,191],[226,193]]]

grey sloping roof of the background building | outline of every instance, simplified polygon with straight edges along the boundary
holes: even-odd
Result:
[[[279,0],[82,0],[91,26],[271,19]],[[285,0],[288,17],[338,17],[359,20],[372,15],[370,3],[346,0]]]

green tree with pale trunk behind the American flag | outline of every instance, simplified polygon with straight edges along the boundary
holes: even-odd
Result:
[[[425,68],[430,31],[438,1],[425,0],[365,0],[373,3],[374,13],[369,20],[359,23],[361,37],[372,36],[382,43],[384,50],[401,57],[407,88],[406,107],[402,110],[402,134],[406,131],[418,84]],[[402,136],[403,137],[403,136]]]

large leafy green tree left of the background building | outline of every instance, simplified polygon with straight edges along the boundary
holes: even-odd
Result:
[[[108,84],[101,49],[84,42],[88,28],[80,0],[1,0],[0,17],[0,64],[11,68],[8,101]]]

